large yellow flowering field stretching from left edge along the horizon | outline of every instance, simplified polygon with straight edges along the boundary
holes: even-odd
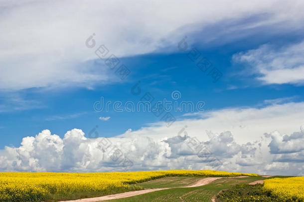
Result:
[[[256,174],[223,171],[143,171],[113,173],[0,173],[1,202],[34,202],[104,196],[140,190],[137,183],[166,176],[235,177]]]

